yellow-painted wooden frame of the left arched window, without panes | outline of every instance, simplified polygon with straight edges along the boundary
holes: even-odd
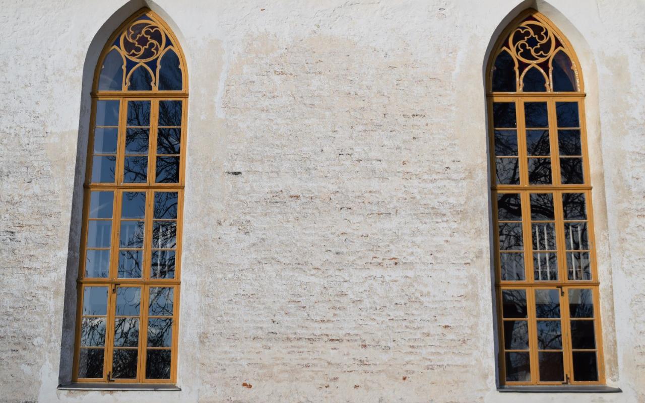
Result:
[[[99,90],[99,74],[103,61],[113,48],[114,41],[121,35],[130,24],[146,15],[157,26],[161,27],[163,33],[168,35],[173,44],[173,50],[179,58],[182,75],[181,90],[159,90],[157,80],[153,89],[150,91],[128,91],[126,88],[126,77],[123,77],[123,87],[121,91]],[[167,47],[166,47],[167,48]],[[160,52],[161,57],[163,52]],[[86,164],[86,180],[84,182],[84,203],[83,203],[83,227],[81,229],[81,247],[79,255],[79,271],[77,280],[77,313],[75,328],[75,348],[74,348],[74,365],[72,380],[74,382],[119,382],[119,383],[144,383],[144,384],[174,384],[177,382],[177,344],[179,340],[179,299],[181,285],[181,251],[182,251],[182,232],[183,232],[183,199],[184,199],[184,181],[186,166],[186,121],[188,114],[188,74],[186,68],[186,59],[181,49],[181,44],[175,37],[168,25],[149,8],[141,8],[130,18],[115,30],[114,34],[106,42],[106,45],[99,56],[97,68],[94,74],[92,86],[92,113],[90,115],[90,136],[88,141],[88,158]],[[153,75],[155,77],[155,75]],[[114,183],[93,183],[92,179],[92,159],[94,155],[94,127],[97,101],[119,100],[119,129],[117,137],[117,159],[115,166]],[[128,101],[150,101],[150,136],[148,138],[148,174],[147,181],[144,183],[123,183],[123,162],[125,154],[125,128]],[[157,119],[159,101],[179,100],[182,102],[181,115],[181,135],[179,148],[179,182],[177,183],[155,183],[155,162],[157,157]],[[114,192],[113,211],[112,211],[112,232],[110,242],[110,271],[108,278],[85,278],[85,251],[87,240],[87,227],[90,210],[90,193],[93,191]],[[143,270],[141,279],[119,279],[117,278],[117,265],[119,255],[119,227],[121,220],[121,201],[123,192],[145,192],[146,208],[144,214],[144,257]],[[174,279],[152,279],[150,278],[150,262],[152,259],[152,222],[154,219],[154,193],[155,192],[177,192],[177,226],[176,226],[176,243],[175,243],[175,277]],[[81,318],[83,317],[83,295],[84,289],[88,286],[105,286],[108,288],[108,306],[106,315],[106,337],[104,340],[104,362],[103,378],[79,378],[79,355],[81,349]],[[139,307],[139,340],[138,347],[138,364],[137,377],[132,379],[112,379],[108,375],[112,367],[112,353],[114,351],[114,319],[115,319],[115,290],[118,287],[136,286],[141,289],[141,304]],[[170,287],[173,288],[173,313],[172,313],[172,341],[170,348],[154,348],[147,346],[147,326],[148,326],[148,297],[150,288]],[[154,317],[152,317],[154,319]],[[171,364],[170,378],[166,379],[146,379],[146,351],[148,349],[170,349]]]

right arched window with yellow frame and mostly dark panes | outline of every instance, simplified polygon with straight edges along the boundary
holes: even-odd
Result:
[[[602,383],[582,76],[544,15],[502,33],[487,95],[501,384]]]

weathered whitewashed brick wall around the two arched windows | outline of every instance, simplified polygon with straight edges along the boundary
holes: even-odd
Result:
[[[59,391],[90,76],[144,5],[188,62],[182,390]],[[482,68],[529,6],[582,64],[619,394],[495,386]],[[0,2],[0,401],[645,402],[643,32],[637,0]]]

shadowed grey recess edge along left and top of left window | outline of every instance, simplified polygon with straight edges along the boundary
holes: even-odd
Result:
[[[117,28],[137,10],[148,7],[160,15],[170,25],[173,32],[183,42],[181,30],[177,28],[170,15],[154,1],[130,0],[121,6],[101,25],[94,35],[83,63],[83,83],[81,85],[81,115],[79,116],[79,131],[74,168],[74,193],[72,195],[72,219],[70,222],[70,237],[68,240],[67,267],[65,275],[65,295],[63,308],[63,331],[61,336],[61,357],[58,372],[59,384],[68,384],[72,380],[74,362],[74,333],[76,319],[77,289],[76,280],[79,268],[79,250],[81,245],[81,226],[83,220],[83,182],[88,154],[88,133],[90,130],[90,112],[92,110],[92,81],[97,68],[99,56]]]

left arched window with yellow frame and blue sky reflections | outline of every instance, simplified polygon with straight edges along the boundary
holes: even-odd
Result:
[[[84,184],[77,382],[175,382],[186,64],[152,11],[130,17],[94,75]]]

